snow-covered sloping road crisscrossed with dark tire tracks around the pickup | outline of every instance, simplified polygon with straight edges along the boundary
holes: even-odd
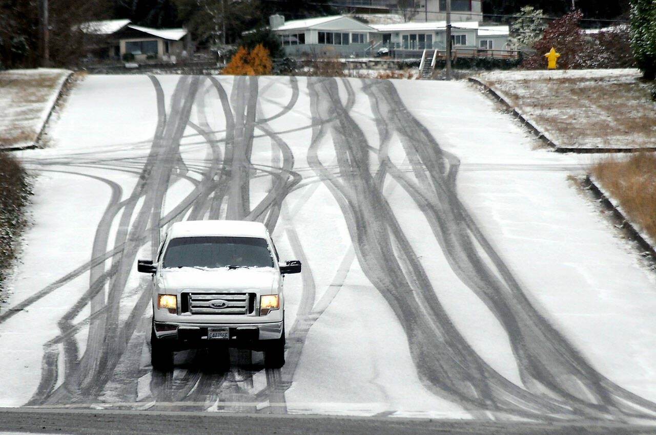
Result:
[[[50,134],[0,406],[656,421],[653,272],[465,83],[91,75]],[[209,218],[303,262],[282,369],[150,368],[136,258]]]

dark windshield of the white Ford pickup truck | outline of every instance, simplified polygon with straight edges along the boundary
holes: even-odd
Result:
[[[164,254],[163,267],[273,267],[264,238],[179,237]]]

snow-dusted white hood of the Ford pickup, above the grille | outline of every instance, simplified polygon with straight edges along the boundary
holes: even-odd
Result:
[[[157,274],[159,293],[180,290],[255,291],[277,293],[280,274],[273,267],[240,269],[161,269]]]

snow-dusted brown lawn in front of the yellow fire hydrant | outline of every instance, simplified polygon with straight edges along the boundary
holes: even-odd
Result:
[[[638,69],[494,71],[490,86],[567,148],[656,147],[656,102]]]

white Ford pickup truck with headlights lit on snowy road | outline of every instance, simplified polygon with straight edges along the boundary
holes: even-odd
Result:
[[[237,347],[264,352],[264,365],[285,364],[283,276],[266,227],[250,221],[182,221],[167,231],[157,259],[138,260],[152,274],[152,366],[173,367],[173,352]]]

